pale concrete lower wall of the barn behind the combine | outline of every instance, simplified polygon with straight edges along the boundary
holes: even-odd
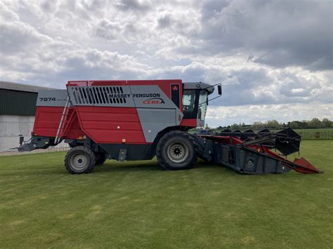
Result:
[[[0,115],[0,152],[18,147],[18,135],[30,139],[34,127],[34,116]]]

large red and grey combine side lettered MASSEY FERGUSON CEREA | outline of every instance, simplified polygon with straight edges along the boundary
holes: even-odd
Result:
[[[151,143],[161,130],[179,126],[183,119],[177,81],[126,81],[126,86],[102,83],[67,85],[81,129],[94,142]]]

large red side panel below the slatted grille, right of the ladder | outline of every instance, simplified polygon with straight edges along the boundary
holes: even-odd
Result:
[[[131,107],[75,107],[84,130],[96,143],[144,144],[136,108]]]

